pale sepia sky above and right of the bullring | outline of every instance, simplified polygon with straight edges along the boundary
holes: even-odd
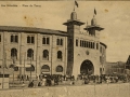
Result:
[[[77,18],[90,24],[94,9],[101,42],[107,45],[107,61],[127,61],[130,55],[130,1],[79,1]],[[5,5],[5,6],[4,6]],[[17,6],[6,6],[17,5]],[[27,6],[28,5],[28,6]],[[36,6],[37,5],[37,6]],[[66,31],[62,25],[70,18],[74,0],[0,1],[0,26],[23,26]],[[81,26],[81,31],[87,24]]]

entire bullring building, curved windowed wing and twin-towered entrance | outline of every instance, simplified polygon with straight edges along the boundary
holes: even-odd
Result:
[[[63,23],[67,31],[0,26],[0,67],[14,69],[15,75],[26,74],[103,74],[106,45],[100,42],[104,29],[93,16],[86,32],[74,11]]]

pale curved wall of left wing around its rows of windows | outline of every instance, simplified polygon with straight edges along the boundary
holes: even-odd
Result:
[[[9,30],[14,27],[8,28]],[[1,27],[1,29],[3,29]],[[5,30],[5,29],[4,29]],[[31,72],[32,74],[40,74],[41,73],[41,68],[43,65],[49,66],[49,71],[46,71],[43,73],[52,73],[52,74],[65,74],[65,67],[67,64],[66,55],[67,55],[67,37],[66,34],[60,36],[60,34],[44,34],[44,32],[39,33],[39,32],[13,32],[13,31],[1,31],[1,52],[0,52],[0,65],[2,66],[3,64],[10,68],[10,65],[14,64],[13,59],[11,57],[11,50],[16,48],[16,59],[15,59],[15,65],[22,65],[25,67],[27,65],[32,65],[35,67],[35,70]],[[17,34],[17,42],[11,42],[11,34]],[[34,43],[27,43],[27,37],[32,36],[34,37]],[[3,38],[4,37],[4,38]],[[43,44],[42,43],[42,38],[49,38],[49,44]],[[63,44],[57,45],[56,40],[62,39]],[[28,50],[31,48],[34,51],[32,53],[32,59],[28,58]],[[48,59],[43,58],[43,51],[48,50],[49,55]],[[62,52],[62,59],[57,59],[57,52]],[[4,59],[5,58],[5,59]],[[56,67],[62,66],[63,70],[61,72],[56,72]],[[21,71],[20,71],[21,70]],[[24,67],[18,68],[18,70],[15,71],[15,73],[26,73],[29,74],[29,71],[24,70]]]

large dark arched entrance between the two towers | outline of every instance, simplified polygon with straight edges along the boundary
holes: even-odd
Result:
[[[94,73],[93,64],[88,59],[84,60],[80,66],[80,73],[81,74],[93,74]]]

